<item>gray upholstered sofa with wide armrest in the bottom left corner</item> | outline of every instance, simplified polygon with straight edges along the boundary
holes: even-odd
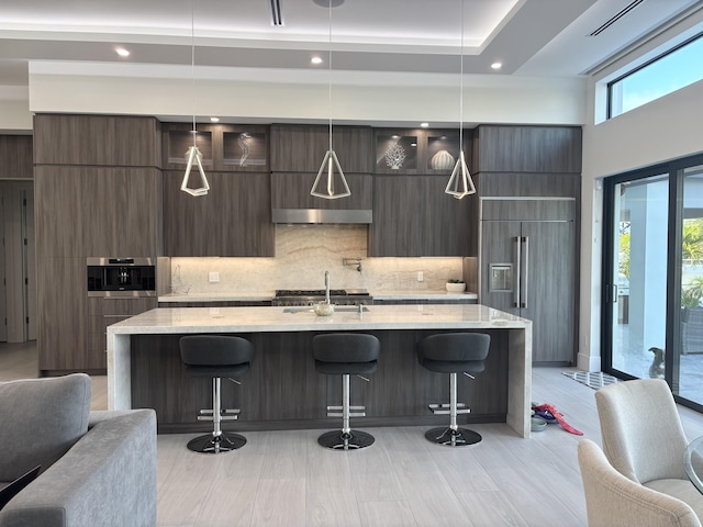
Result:
[[[156,525],[156,415],[90,412],[82,373],[0,383],[0,489],[38,476],[0,511],[0,527]]]

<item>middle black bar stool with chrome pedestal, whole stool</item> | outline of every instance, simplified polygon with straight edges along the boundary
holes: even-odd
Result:
[[[349,405],[349,375],[368,381],[366,375],[376,372],[381,345],[373,335],[360,333],[332,333],[315,335],[312,352],[315,371],[327,375],[342,375],[342,406],[327,406],[327,417],[342,417],[342,429],[327,431],[317,442],[332,449],[359,449],[373,445],[373,436],[353,430],[349,417],[364,417],[365,406]]]

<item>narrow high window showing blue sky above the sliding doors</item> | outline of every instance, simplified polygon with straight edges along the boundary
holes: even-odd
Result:
[[[607,85],[607,119],[703,79],[698,35]]]

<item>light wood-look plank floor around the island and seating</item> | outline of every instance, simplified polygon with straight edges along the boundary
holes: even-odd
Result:
[[[554,404],[600,444],[595,392],[563,370],[536,368],[533,401]],[[0,381],[35,374],[33,345],[0,345]],[[93,406],[104,408],[107,383],[93,380]],[[679,411],[689,438],[703,435],[703,416]],[[193,436],[159,436],[158,525],[585,526],[580,437],[558,425],[531,439],[502,424],[476,425],[482,442],[449,449],[425,440],[425,427],[362,421],[353,425],[376,444],[358,452],[319,447],[321,430],[244,433],[244,448],[216,457],[187,450]]]

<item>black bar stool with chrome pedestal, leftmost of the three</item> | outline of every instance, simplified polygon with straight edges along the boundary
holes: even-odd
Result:
[[[223,431],[223,421],[234,421],[238,410],[222,410],[221,379],[239,384],[252,367],[254,346],[246,338],[224,335],[188,335],[179,340],[180,358],[186,373],[193,378],[212,378],[212,410],[201,410],[198,421],[212,421],[211,434],[188,442],[188,448],[200,453],[228,452],[246,445],[239,434]]]

